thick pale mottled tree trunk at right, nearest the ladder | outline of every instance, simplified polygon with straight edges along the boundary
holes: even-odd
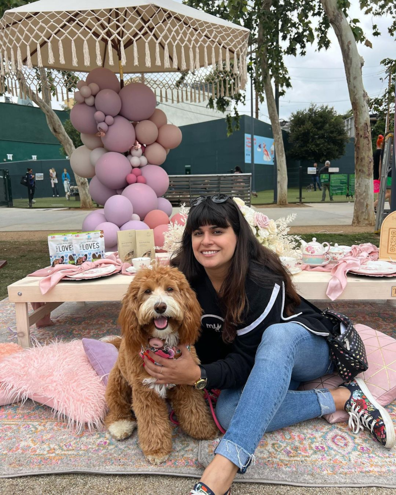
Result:
[[[368,94],[363,86],[363,58],[345,15],[337,0],[321,0],[341,48],[346,82],[355,119],[355,206],[352,225],[372,226],[374,216],[373,150],[368,107]]]

